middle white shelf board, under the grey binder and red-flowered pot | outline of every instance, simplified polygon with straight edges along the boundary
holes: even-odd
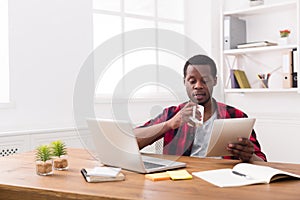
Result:
[[[277,45],[277,46],[266,46],[266,47],[252,47],[252,48],[243,48],[243,49],[230,49],[224,50],[224,55],[238,55],[244,53],[259,53],[264,51],[279,51],[287,49],[297,48],[296,44],[291,45]]]

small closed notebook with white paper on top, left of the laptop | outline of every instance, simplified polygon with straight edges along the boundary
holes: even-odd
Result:
[[[83,168],[80,170],[86,182],[97,183],[107,181],[125,180],[125,175],[121,173],[121,168],[114,167],[95,167]]]

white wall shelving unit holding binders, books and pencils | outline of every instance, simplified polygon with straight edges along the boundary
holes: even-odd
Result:
[[[246,21],[246,42],[269,41],[278,43],[276,46],[251,47],[243,49],[224,49],[224,19],[227,16],[238,17]],[[284,16],[284,17],[282,17]],[[225,93],[300,93],[298,87],[286,88],[280,84],[272,84],[269,88],[262,88],[257,78],[259,73],[271,73],[274,81],[282,72],[282,55],[293,53],[293,68],[299,75],[299,39],[300,39],[299,1],[289,1],[265,4],[236,10],[223,10],[221,15],[221,81]],[[275,19],[275,20],[274,20]],[[279,30],[289,29],[291,34],[287,44],[279,44]],[[231,88],[230,70],[244,70],[249,79],[251,88]],[[273,76],[272,76],[273,75]],[[270,79],[271,79],[270,77]],[[277,77],[275,80],[274,77]],[[270,82],[271,83],[271,82]]]

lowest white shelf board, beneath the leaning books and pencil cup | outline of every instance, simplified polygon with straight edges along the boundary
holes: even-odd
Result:
[[[269,88],[249,88],[249,89],[225,89],[225,93],[297,93],[298,88],[269,89]]]

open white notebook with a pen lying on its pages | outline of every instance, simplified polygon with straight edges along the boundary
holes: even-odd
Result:
[[[217,169],[193,172],[201,178],[219,187],[238,187],[252,184],[269,184],[280,179],[300,179],[300,175],[282,171],[268,166],[250,163],[236,164],[232,169]]]

